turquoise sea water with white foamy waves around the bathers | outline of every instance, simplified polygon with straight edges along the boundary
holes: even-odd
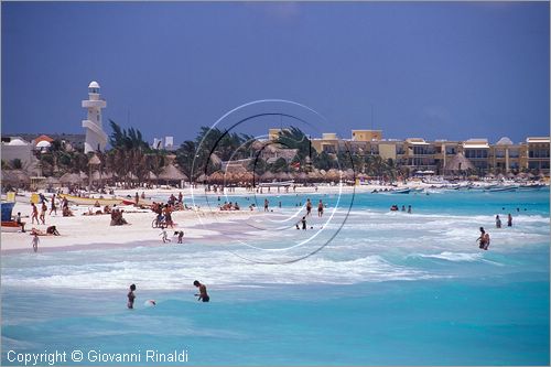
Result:
[[[313,212],[328,207],[305,231],[306,195],[268,197],[273,213],[205,226],[223,239],[2,256],[2,365],[20,365],[10,350],[76,349],[82,363],[61,364],[114,365],[87,360],[101,350],[152,365],[152,349],[191,365],[549,365],[549,191],[312,194]]]

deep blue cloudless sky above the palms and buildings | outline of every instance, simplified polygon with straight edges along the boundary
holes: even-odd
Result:
[[[371,106],[385,138],[550,131],[549,2],[1,7],[2,133],[83,132],[93,79],[105,126],[176,143],[263,98],[304,104],[344,138],[371,127]]]

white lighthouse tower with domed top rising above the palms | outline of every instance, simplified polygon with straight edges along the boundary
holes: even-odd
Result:
[[[83,120],[83,128],[86,129],[85,153],[105,149],[107,134],[104,132],[104,126],[101,125],[101,108],[106,106],[107,102],[99,99],[99,84],[91,82],[88,85],[88,99],[83,100],[83,107],[88,110],[88,118]]]

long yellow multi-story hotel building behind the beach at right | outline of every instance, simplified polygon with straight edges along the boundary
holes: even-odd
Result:
[[[269,139],[278,139],[280,129],[270,129]],[[509,173],[521,170],[538,171],[549,175],[550,138],[527,138],[526,142],[514,143],[509,138],[501,138],[495,144],[487,139],[467,139],[465,141],[435,140],[422,138],[382,139],[381,130],[352,130],[352,139],[342,139],[334,132],[312,138],[312,148],[317,153],[380,155],[391,159],[410,173],[433,171],[442,174],[446,163],[457,153],[468,159],[480,174]]]

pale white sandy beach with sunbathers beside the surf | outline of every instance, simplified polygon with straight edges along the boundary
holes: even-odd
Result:
[[[480,184],[485,184],[484,182]],[[152,190],[116,190],[115,194],[120,196],[130,195],[133,197],[136,192],[145,194],[148,198],[154,197],[168,197],[170,194],[177,196],[180,192],[184,195],[184,202],[188,206],[193,206],[194,197],[204,199],[205,195],[212,197],[210,207],[202,207],[198,211],[181,211],[173,213],[174,229],[168,228],[169,237],[172,237],[174,230],[183,229],[185,233],[185,239],[215,239],[219,238],[222,235],[216,229],[205,229],[214,227],[220,222],[230,220],[246,220],[252,215],[262,215],[258,208],[253,212],[249,211],[248,207],[244,207],[238,212],[220,212],[217,209],[217,197],[220,196],[222,202],[231,201],[234,195],[247,195],[247,196],[261,196],[261,197],[277,197],[278,195],[300,195],[304,196],[306,194],[338,194],[339,192],[345,193],[361,193],[361,192],[372,192],[374,190],[381,188],[403,188],[403,187],[430,187],[429,184],[422,182],[410,181],[407,185],[398,184],[397,187],[389,185],[358,185],[358,186],[329,186],[329,185],[318,185],[317,191],[315,187],[302,187],[298,186],[296,191],[293,192],[292,188],[289,190],[289,194],[284,193],[281,188],[280,193],[274,187],[271,187],[270,192],[264,187],[262,194],[247,192],[245,188],[236,187],[233,193],[214,193],[209,192],[205,194],[202,186],[197,188],[185,187],[183,190],[176,188],[152,188]],[[19,196],[23,195],[23,196]],[[20,193],[17,198],[17,204],[13,208],[13,216],[21,212],[23,222],[26,223],[26,233],[2,233],[1,234],[1,251],[26,251],[31,250],[31,228],[39,228],[43,231],[48,226],[56,226],[61,236],[41,236],[39,248],[66,248],[66,247],[82,247],[90,248],[97,246],[136,246],[138,244],[143,244],[143,241],[154,242],[162,245],[161,241],[161,230],[159,228],[152,228],[151,222],[154,218],[154,214],[149,209],[138,209],[132,206],[123,206],[125,209],[123,217],[127,219],[129,225],[125,226],[110,226],[109,215],[94,215],[85,216],[83,213],[87,212],[88,206],[72,206],[75,212],[74,217],[63,217],[61,206],[58,206],[57,215],[46,214],[46,225],[32,225],[31,224],[31,205],[30,205],[30,193]],[[46,194],[46,197],[51,197],[51,194]],[[47,204],[50,212],[50,203]],[[96,209],[96,208],[94,208]],[[174,239],[173,239],[174,240]]]

